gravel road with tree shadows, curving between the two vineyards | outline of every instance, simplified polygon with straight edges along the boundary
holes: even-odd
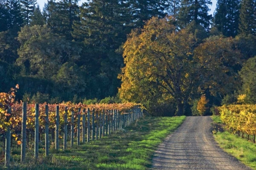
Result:
[[[187,117],[158,147],[152,169],[250,170],[217,146],[210,117]]]

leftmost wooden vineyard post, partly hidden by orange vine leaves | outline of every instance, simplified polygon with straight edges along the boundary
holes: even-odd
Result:
[[[8,113],[12,113],[12,108],[8,109]],[[5,155],[4,155],[4,167],[8,168],[10,163],[11,154],[11,127],[8,126],[5,131]]]

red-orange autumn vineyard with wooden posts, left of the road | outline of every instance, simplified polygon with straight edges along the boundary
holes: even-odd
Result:
[[[63,150],[70,147],[97,140],[102,136],[128,126],[142,117],[141,105],[136,103],[122,104],[27,104],[15,103],[15,91],[1,93],[0,98],[0,133],[5,152],[5,167],[10,163],[11,147],[21,146],[20,162],[26,157],[28,146],[34,147],[35,159],[39,156],[39,146],[49,155],[49,144],[54,143],[59,150],[63,140]],[[87,134],[87,138],[86,138]]]

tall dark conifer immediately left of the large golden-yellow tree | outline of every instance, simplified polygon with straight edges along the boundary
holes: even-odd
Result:
[[[84,45],[80,63],[93,77],[88,86],[92,91],[102,91],[98,93],[100,98],[115,95],[120,85],[117,75],[123,60],[116,50],[134,26],[126,5],[121,0],[85,2],[80,7],[80,21],[73,25],[74,39]]]

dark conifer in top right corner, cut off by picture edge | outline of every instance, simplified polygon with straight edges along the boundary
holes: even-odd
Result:
[[[242,0],[239,21],[242,34],[256,36],[256,0]]]

